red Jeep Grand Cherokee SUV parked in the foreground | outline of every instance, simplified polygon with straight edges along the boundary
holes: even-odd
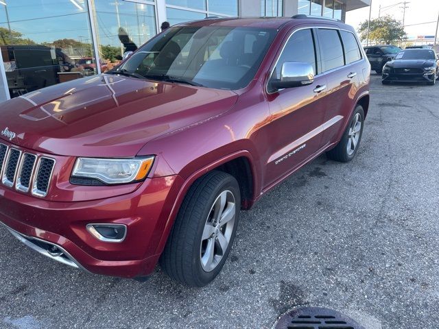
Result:
[[[369,74],[339,21],[176,25],[108,73],[0,104],[0,221],[73,267],[141,279],[160,260],[203,286],[241,209],[323,152],[353,159]]]

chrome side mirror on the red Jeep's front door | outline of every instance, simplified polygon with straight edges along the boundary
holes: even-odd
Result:
[[[281,79],[270,82],[272,88],[294,88],[314,82],[314,69],[309,63],[285,62],[282,64]]]

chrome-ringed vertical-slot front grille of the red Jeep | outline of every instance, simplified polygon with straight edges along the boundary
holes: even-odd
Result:
[[[36,154],[23,153],[14,146],[0,143],[0,177],[5,186],[15,185],[17,191],[27,193],[32,190],[32,195],[45,197],[54,167],[55,160],[52,158],[38,158]]]

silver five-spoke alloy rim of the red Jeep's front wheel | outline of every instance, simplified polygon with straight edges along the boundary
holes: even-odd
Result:
[[[213,202],[201,238],[200,260],[204,271],[213,271],[226,254],[235,226],[235,213],[235,196],[229,190],[222,191]]]

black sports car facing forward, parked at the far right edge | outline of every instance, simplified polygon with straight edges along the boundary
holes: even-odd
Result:
[[[385,64],[383,84],[390,82],[427,82],[436,84],[438,78],[438,55],[431,49],[406,49],[396,54],[394,60]]]

